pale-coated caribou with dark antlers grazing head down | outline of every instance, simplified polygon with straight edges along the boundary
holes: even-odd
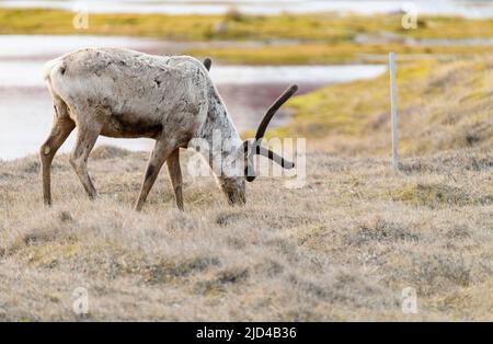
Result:
[[[135,203],[140,210],[167,162],[175,204],[183,210],[180,148],[196,148],[194,139],[209,142],[206,160],[213,168],[219,161],[242,163],[241,175],[228,173],[222,162],[214,174],[229,204],[244,204],[245,181],[255,180],[253,157],[264,156],[285,169],[294,163],[261,145],[277,110],[298,90],[288,88],[256,129],[255,137],[241,140],[226,105],[209,76],[210,59],[204,62],[190,56],[154,56],[123,48],[85,48],[66,54],[45,65],[43,77],[54,103],[50,134],[41,147],[43,197],[51,205],[50,169],[53,159],[77,127],[70,164],[90,198],[96,190],[88,173],[88,158],[100,135],[114,138],[156,140],[147,171]],[[230,145],[213,142],[219,131]]]

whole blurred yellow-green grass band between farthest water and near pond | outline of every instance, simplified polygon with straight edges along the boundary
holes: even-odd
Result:
[[[188,42],[173,54],[209,56],[225,64],[307,65],[375,62],[388,51],[400,55],[450,56],[491,54],[491,45],[468,45],[460,39],[490,38],[490,20],[420,16],[419,30],[403,30],[402,15],[279,14],[246,15],[230,11],[222,15],[165,15],[91,13],[89,27],[72,26],[74,13],[43,9],[0,9],[0,34],[70,34],[148,36]],[[360,35],[382,38],[360,44]],[[426,46],[410,45],[408,38],[432,38]],[[449,45],[435,44],[447,38]],[[458,39],[455,42],[455,39]],[[237,45],[226,42],[250,42]],[[194,45],[193,42],[222,42]],[[170,50],[162,51],[170,54]]]

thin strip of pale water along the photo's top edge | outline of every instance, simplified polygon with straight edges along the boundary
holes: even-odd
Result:
[[[51,8],[73,10],[81,3],[87,4],[89,12],[104,13],[168,13],[168,14],[220,14],[232,5],[243,13],[278,14],[318,13],[323,11],[354,12],[359,14],[390,13],[402,9],[410,1],[326,1],[326,0],[84,0],[84,1],[0,1],[0,7],[10,8]],[[414,0],[419,14],[454,14],[468,18],[492,18],[493,3],[489,1],[452,1],[452,0]],[[80,7],[79,7],[80,9]]]

